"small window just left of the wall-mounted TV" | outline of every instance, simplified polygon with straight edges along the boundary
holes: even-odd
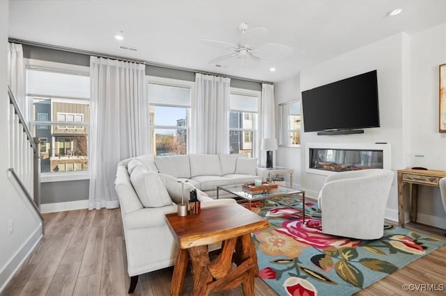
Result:
[[[300,146],[300,101],[279,105],[280,145]]]

